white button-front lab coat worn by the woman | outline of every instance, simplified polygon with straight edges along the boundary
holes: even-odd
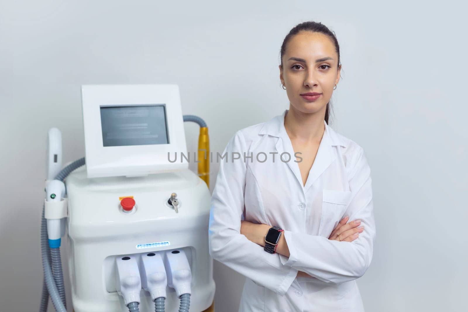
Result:
[[[211,201],[210,254],[246,276],[240,312],[363,312],[356,279],[369,267],[375,242],[366,156],[324,121],[304,186],[285,131],[287,111],[237,131],[228,142]],[[239,157],[233,152],[240,159],[233,160]],[[279,159],[283,152],[291,155],[289,162],[287,154]],[[329,240],[346,215],[361,219],[364,232],[352,242]],[[242,235],[241,219],[284,229],[289,258],[269,254]],[[297,277],[298,270],[313,277]]]

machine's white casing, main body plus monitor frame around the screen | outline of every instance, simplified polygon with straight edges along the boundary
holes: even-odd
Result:
[[[207,309],[215,292],[208,248],[210,191],[188,163],[168,162],[168,152],[186,152],[178,87],[83,86],[82,99],[86,166],[65,180],[74,311],[128,311],[117,291],[122,289],[117,286],[116,259],[131,256],[141,276],[142,255],[173,250],[182,250],[190,265],[190,311]],[[165,104],[169,144],[103,146],[100,105],[141,104]],[[178,213],[168,203],[173,193]],[[135,205],[126,213],[120,201],[130,196]],[[144,288],[149,289],[146,280],[139,311],[154,311],[154,298]],[[153,296],[164,293],[166,311],[178,311],[174,289],[166,286]]]

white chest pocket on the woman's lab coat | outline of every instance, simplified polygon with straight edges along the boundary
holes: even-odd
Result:
[[[343,217],[351,199],[351,191],[335,189],[322,190],[322,216],[319,235],[329,237],[331,231]]]

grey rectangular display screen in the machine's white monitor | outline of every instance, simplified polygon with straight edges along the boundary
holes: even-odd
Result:
[[[163,104],[101,106],[104,146],[168,144]]]

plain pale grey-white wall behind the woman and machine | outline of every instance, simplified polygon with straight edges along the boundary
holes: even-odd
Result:
[[[294,25],[315,20],[341,45],[332,125],[364,147],[372,169],[377,244],[358,281],[366,311],[462,311],[462,12],[448,1],[1,1],[0,310],[39,305],[46,132],[62,131],[64,162],[84,156],[81,84],[176,83],[183,113],[203,117],[222,152],[235,131],[288,108],[279,48]],[[197,128],[185,125],[191,151]],[[237,311],[244,277],[214,270],[218,307]]]

